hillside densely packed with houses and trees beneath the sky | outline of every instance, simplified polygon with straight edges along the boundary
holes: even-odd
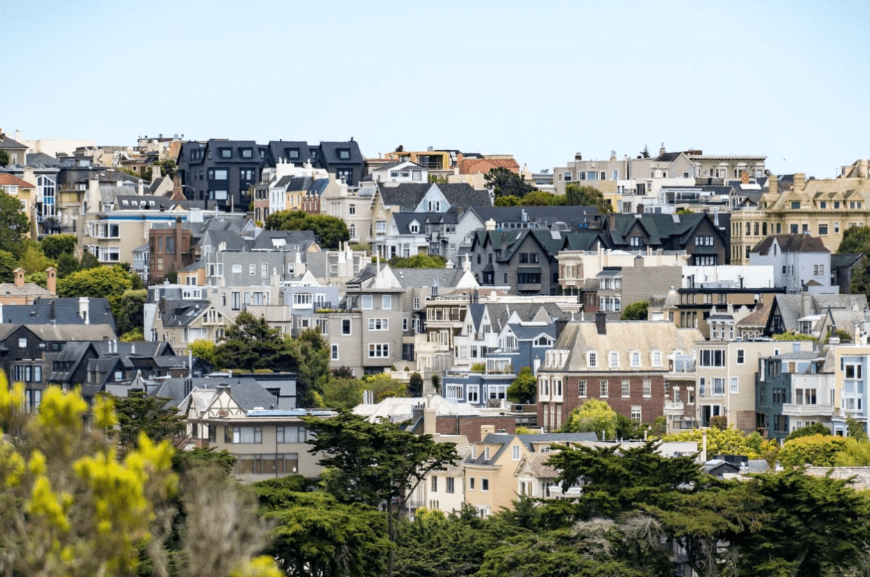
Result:
[[[773,151],[661,144],[535,172],[275,136],[0,130],[7,436],[76,399],[77,434],[222,455],[306,527],[270,550],[284,574],[592,574],[561,572],[558,530],[611,574],[870,567],[850,488],[870,488],[867,159],[807,178],[769,171]],[[770,503],[817,490],[857,536],[805,563],[786,541],[827,513]],[[356,528],[317,533],[287,503]],[[497,523],[528,530],[521,553],[486,554]],[[344,553],[300,553],[315,533]]]

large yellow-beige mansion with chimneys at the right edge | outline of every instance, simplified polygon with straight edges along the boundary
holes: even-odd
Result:
[[[847,228],[870,225],[867,164],[856,161],[840,178],[772,176],[757,209],[732,212],[731,264],[748,265],[753,247],[773,234],[812,234],[836,252]]]

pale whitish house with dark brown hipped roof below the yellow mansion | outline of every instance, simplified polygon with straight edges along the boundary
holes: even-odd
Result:
[[[819,237],[776,234],[766,237],[749,252],[750,265],[772,265],[773,282],[786,293],[839,292],[831,286],[831,252]]]

